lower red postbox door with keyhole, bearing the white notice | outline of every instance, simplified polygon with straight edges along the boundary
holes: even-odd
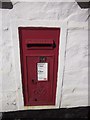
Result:
[[[54,56],[27,57],[28,96],[30,105],[50,105],[53,99]]]

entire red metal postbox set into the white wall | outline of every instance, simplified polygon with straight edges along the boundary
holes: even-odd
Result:
[[[19,27],[25,106],[55,105],[60,28]]]

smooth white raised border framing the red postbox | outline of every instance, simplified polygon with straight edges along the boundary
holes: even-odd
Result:
[[[56,102],[55,105],[46,106],[24,106],[23,90],[22,90],[22,77],[21,77],[21,62],[20,62],[20,46],[19,46],[19,34],[18,27],[56,27],[60,28],[60,44],[59,44],[59,56],[58,56],[58,77],[57,77],[57,88],[56,88]],[[66,38],[67,38],[67,22],[59,20],[12,20],[11,21],[12,31],[12,44],[13,54],[15,63],[15,74],[16,74],[16,85],[20,88],[17,91],[18,94],[18,109],[55,109],[60,108],[62,100],[62,88],[63,88],[63,73],[65,65],[65,51],[66,51]]]

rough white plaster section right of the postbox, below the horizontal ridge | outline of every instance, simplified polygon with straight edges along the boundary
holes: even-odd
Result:
[[[87,30],[68,30],[66,51],[62,106],[86,105],[88,103]],[[70,101],[73,101],[72,104]]]

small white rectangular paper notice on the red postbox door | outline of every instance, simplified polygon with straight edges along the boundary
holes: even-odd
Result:
[[[48,80],[48,63],[37,63],[38,81]]]

